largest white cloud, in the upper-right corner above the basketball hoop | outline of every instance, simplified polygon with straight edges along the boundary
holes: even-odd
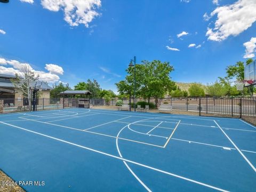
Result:
[[[217,7],[211,13],[211,17],[217,15],[214,28],[207,28],[206,36],[211,41],[221,42],[230,35],[239,35],[256,21],[255,10],[255,0],[239,0],[231,5]]]

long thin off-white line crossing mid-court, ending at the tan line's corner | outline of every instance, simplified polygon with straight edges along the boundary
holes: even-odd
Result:
[[[19,117],[19,118],[27,119],[27,118],[25,118],[25,117]],[[68,126],[64,126],[64,125],[58,125],[58,124],[53,124],[53,123],[41,122],[41,121],[37,121],[37,120],[35,120],[35,119],[27,119],[27,120],[28,120],[28,121],[38,122],[38,123],[44,123],[44,124],[59,126],[59,127],[63,127],[63,128],[66,128],[66,129],[71,129],[71,130],[76,130],[76,131],[83,131],[83,132],[87,132],[87,133],[102,135],[102,136],[105,136],[105,137],[116,138],[115,136],[112,136],[112,135],[107,135],[107,134],[97,133],[97,132],[92,132],[92,131],[84,131],[84,130],[81,130],[81,129],[76,129],[76,128],[68,127]],[[131,142],[141,143],[141,144],[143,144],[143,145],[149,145],[149,146],[154,146],[154,147],[163,148],[163,146],[158,146],[158,145],[154,145],[154,144],[151,144],[151,143],[136,141],[136,140],[132,140],[132,139],[126,139],[126,138],[119,138],[119,139],[122,139],[122,140],[125,140],[125,141],[131,141]]]

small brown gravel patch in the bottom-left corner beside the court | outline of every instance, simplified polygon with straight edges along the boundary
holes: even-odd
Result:
[[[1,192],[25,192],[19,185],[15,185],[14,181],[0,170],[0,191]]]

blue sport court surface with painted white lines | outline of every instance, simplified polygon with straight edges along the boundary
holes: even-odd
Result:
[[[256,191],[241,119],[69,108],[0,116],[0,169],[27,191]]]

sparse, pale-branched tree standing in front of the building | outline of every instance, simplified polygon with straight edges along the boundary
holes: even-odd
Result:
[[[30,87],[31,83],[36,82],[39,78],[39,75],[31,70],[29,65],[25,65],[20,69],[19,74],[15,74],[15,78],[11,79],[12,84],[15,89],[18,89],[22,92],[23,97],[28,98],[28,105],[31,105],[30,97]]]

